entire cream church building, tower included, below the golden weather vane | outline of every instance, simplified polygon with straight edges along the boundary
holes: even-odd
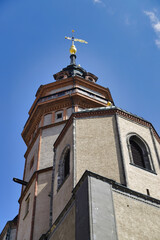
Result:
[[[70,57],[29,111],[17,230],[0,239],[159,240],[160,137]]]

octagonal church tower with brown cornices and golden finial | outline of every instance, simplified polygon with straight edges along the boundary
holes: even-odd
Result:
[[[97,85],[94,74],[76,65],[74,40],[70,65],[54,75],[55,82],[39,87],[22,132],[27,151],[17,240],[39,239],[50,227],[53,144],[70,116],[82,109],[114,105],[109,89]]]

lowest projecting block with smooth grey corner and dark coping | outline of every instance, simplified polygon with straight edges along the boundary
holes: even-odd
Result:
[[[85,172],[47,239],[159,240],[159,216],[158,199]]]

